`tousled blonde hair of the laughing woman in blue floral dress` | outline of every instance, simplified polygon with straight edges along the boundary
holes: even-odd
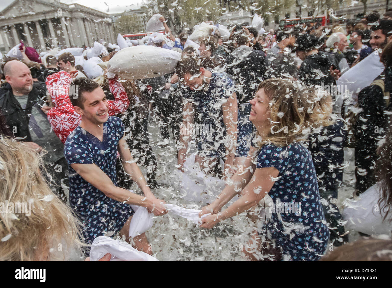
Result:
[[[331,121],[332,97],[313,88],[302,87],[291,80],[272,78],[260,83],[258,90],[264,89],[270,100],[270,131],[258,146],[272,143],[286,146],[307,139],[307,134],[320,126],[328,126]]]

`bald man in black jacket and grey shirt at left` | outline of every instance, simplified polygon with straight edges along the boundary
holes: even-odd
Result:
[[[50,109],[45,105],[46,89],[33,82],[27,65],[18,60],[5,63],[3,71],[7,82],[0,87],[0,113],[8,130],[29,147],[48,151],[44,156],[45,163],[48,167],[57,166],[53,174],[61,187],[60,180],[66,178],[67,164],[63,155],[64,145],[51,130],[44,112]]]

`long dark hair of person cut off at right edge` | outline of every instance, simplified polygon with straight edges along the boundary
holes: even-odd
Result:
[[[391,47],[392,43],[387,46]],[[384,53],[385,50],[383,50]],[[382,55],[382,54],[381,54]],[[382,57],[382,56],[381,56]],[[384,143],[379,148],[379,159],[377,160],[377,178],[381,187],[381,197],[378,201],[381,214],[384,214],[384,221],[389,216],[392,221],[392,116],[387,121],[387,134],[382,140]]]

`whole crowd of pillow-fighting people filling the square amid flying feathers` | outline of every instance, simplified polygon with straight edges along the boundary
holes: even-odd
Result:
[[[56,255],[52,242],[87,257],[94,239],[108,233],[152,255],[145,233],[129,237],[130,205],[155,216],[168,212],[165,199],[154,195],[162,183],[149,139],[152,120],[160,147],[174,139],[172,165],[185,172],[194,150],[194,165],[225,181],[215,200],[201,207],[195,229],[245,213],[263,223],[250,240],[261,259],[317,261],[328,243],[344,249],[348,231],[336,199],[345,147],[355,149],[353,192],[382,183],[381,215],[390,221],[390,18],[374,12],[356,21],[268,32],[242,23],[228,27],[228,37],[212,29],[189,42],[189,31],[176,38],[160,17],[165,34],[130,46],[171,49],[181,59],[169,74],[137,80],[107,73],[118,53],[107,44],[98,77],[88,78],[70,52],[46,56],[44,63],[26,47],[22,59],[5,57],[0,199],[30,202],[32,213],[1,214],[0,259],[67,259]],[[133,182],[143,196],[131,190]],[[260,214],[266,197],[291,208],[267,219]]]

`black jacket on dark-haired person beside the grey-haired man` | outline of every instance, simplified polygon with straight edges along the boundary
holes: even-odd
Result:
[[[305,85],[335,85],[335,80],[330,75],[331,66],[339,69],[339,63],[331,54],[319,51],[319,53],[309,55],[299,67],[299,80]]]

